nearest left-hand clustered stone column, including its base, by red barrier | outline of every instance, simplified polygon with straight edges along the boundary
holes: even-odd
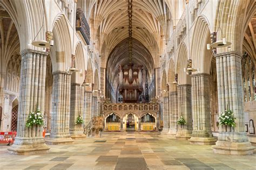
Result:
[[[26,127],[29,112],[44,113],[46,57],[48,53],[24,49],[21,52],[21,84],[19,88],[17,136],[8,148],[13,154],[48,152],[43,138],[43,125]]]

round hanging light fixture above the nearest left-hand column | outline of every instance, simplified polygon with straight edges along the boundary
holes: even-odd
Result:
[[[43,48],[49,48],[50,46],[53,46],[53,40],[52,40],[52,37],[53,37],[53,33],[51,31],[46,31],[45,33],[45,38],[46,40],[44,39],[41,39],[41,40],[36,40],[39,32],[43,29],[44,27],[44,13],[45,13],[45,5],[44,5],[44,2],[43,1],[43,24],[40,28],[40,30],[37,32],[36,34],[36,37],[32,40],[30,40],[29,44],[28,45],[33,45],[35,47],[43,47]]]

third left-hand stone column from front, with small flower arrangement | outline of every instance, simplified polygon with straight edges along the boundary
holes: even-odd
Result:
[[[71,84],[70,98],[70,136],[72,139],[83,139],[84,135],[83,124],[77,125],[76,119],[80,115],[84,119],[84,85],[78,83]]]

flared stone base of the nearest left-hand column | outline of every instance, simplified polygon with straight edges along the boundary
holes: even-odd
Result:
[[[48,153],[50,147],[45,144],[43,137],[15,138],[15,142],[7,150],[11,154],[30,155]]]

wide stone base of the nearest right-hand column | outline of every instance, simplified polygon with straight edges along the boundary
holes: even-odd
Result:
[[[252,146],[249,141],[230,142],[218,140],[216,145],[213,145],[212,148],[213,152],[217,154],[249,155],[253,154],[253,151],[256,147]]]

